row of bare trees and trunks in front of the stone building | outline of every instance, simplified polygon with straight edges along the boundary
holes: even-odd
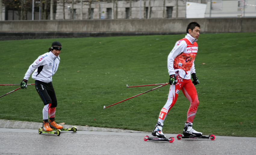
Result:
[[[2,1],[2,2],[1,2]],[[129,17],[131,18],[131,13],[132,13],[132,2],[137,2],[138,0],[122,0],[126,1],[127,3],[130,3],[130,15]],[[149,6],[148,6],[148,14],[146,15],[146,0],[142,0],[144,3],[144,11],[142,13],[142,16],[144,15],[144,18],[150,18],[151,14],[151,0],[148,0]],[[0,0],[0,3],[5,6],[5,9],[7,10],[12,10],[15,11],[15,13],[18,16],[19,20],[28,20],[27,19],[27,14],[28,12],[32,12],[33,8],[33,0]],[[117,19],[117,8],[118,8],[118,0],[35,0],[34,1],[34,10],[36,12],[39,12],[39,7],[40,9],[40,19],[47,20],[48,16],[53,13],[56,13],[57,10],[57,5],[63,7],[63,17],[65,19],[65,5],[70,4],[70,13],[71,13],[71,19],[73,19],[73,10],[74,10],[74,5],[78,4],[80,5],[80,9],[83,10],[83,5],[89,6],[88,9],[88,14],[89,14],[89,19],[91,19],[91,9],[92,9],[92,4],[100,4],[100,3],[112,3],[113,4],[113,17],[114,19]],[[99,19],[100,19],[100,14],[101,14],[101,5],[99,5]],[[164,9],[165,9],[165,0],[164,0]],[[115,11],[114,11],[115,10]],[[163,17],[164,17],[164,11],[163,10]],[[81,14],[80,19],[83,18],[83,14]],[[142,17],[143,18],[143,17]],[[51,20],[52,20],[52,15],[51,15]]]

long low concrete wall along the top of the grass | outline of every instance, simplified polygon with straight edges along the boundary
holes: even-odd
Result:
[[[256,18],[0,21],[0,36],[88,37],[186,33],[196,21],[201,33],[256,32]]]

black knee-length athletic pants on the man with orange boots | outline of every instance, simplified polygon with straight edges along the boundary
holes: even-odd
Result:
[[[42,81],[35,81],[36,83],[36,91],[38,92],[40,98],[44,102],[44,105],[51,103],[51,108],[57,107],[57,98],[55,95],[54,88],[52,86],[52,82],[45,83]]]

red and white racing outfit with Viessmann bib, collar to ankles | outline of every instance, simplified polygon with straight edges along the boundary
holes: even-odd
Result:
[[[187,34],[185,38],[176,42],[168,56],[169,75],[176,75],[176,85],[170,85],[169,96],[162,108],[158,122],[163,123],[168,112],[175,104],[180,90],[190,102],[187,113],[187,122],[192,123],[199,104],[195,86],[191,81],[191,74],[195,73],[194,60],[198,46],[196,39]]]

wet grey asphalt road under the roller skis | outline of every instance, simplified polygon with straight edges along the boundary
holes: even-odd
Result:
[[[0,155],[211,155],[256,154],[256,138],[216,136],[210,139],[181,139],[173,143],[144,141],[147,133],[77,131],[39,134],[36,129],[0,128]]]

